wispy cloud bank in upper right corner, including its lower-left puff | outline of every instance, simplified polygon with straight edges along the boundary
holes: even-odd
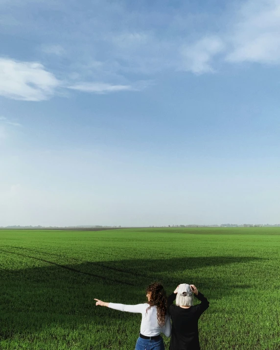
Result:
[[[228,63],[280,64],[280,0],[248,0],[219,34],[183,46],[183,69],[213,72],[215,56]]]

